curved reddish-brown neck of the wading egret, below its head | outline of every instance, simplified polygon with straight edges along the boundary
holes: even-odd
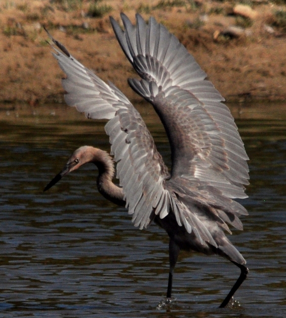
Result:
[[[93,148],[92,155],[90,162],[93,162],[98,168],[96,183],[99,193],[109,201],[120,206],[125,206],[126,201],[123,199],[122,188],[112,182],[115,172],[113,159],[107,152],[95,148]]]

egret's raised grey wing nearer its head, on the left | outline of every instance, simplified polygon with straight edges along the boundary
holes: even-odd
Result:
[[[110,119],[105,130],[117,161],[126,207],[133,214],[135,226],[147,227],[155,215],[163,217],[169,211],[169,195],[164,189],[167,167],[149,130],[118,88],[100,80],[61,43],[50,38],[64,53],[54,47],[57,54],[53,55],[67,75],[62,80],[67,104],[84,112],[87,118]]]

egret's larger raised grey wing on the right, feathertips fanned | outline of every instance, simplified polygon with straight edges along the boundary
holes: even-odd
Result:
[[[151,102],[171,146],[171,176],[210,185],[228,198],[246,198],[248,167],[244,144],[223,97],[187,49],[167,29],[122,14],[124,31],[111,18],[116,37],[142,80],[133,90]]]

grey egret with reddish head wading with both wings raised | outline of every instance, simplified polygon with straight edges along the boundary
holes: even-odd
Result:
[[[98,168],[99,193],[132,215],[140,229],[151,222],[169,237],[167,299],[180,250],[220,255],[241,273],[219,307],[228,305],[248,274],[246,261],[227,238],[229,226],[243,230],[239,217],[248,213],[235,199],[247,198],[248,157],[225,99],[206,80],[206,73],[163,24],[140,14],[135,25],[121,13],[113,17],[115,36],[140,79],[129,86],[152,104],[161,119],[171,152],[165,165],[139,112],[111,82],[99,79],[67,48],[52,40],[54,57],[66,74],[65,101],[89,119],[107,119],[111,151],[77,149],[63,170],[44,188],[92,162]],[[115,175],[119,185],[113,183]]]

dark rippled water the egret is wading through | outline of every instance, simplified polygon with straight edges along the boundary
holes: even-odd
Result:
[[[9,107],[0,112],[0,317],[286,317],[286,105],[231,107],[251,183],[245,230],[230,239],[250,273],[226,309],[217,307],[239,270],[197,253],[180,255],[176,300],[163,303],[166,234],[134,228],[103,199],[93,165],[42,193],[78,147],[109,150],[104,123],[64,105]],[[158,119],[142,110],[169,163]]]

